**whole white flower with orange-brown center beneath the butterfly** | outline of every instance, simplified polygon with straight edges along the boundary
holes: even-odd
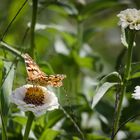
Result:
[[[56,95],[42,86],[23,85],[11,94],[11,102],[22,111],[31,111],[40,116],[59,107]]]

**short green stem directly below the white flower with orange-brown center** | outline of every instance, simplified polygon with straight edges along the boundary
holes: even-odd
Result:
[[[34,114],[32,112],[29,112],[23,140],[28,140],[28,136],[29,136],[29,132],[30,132],[33,120],[34,120]]]

